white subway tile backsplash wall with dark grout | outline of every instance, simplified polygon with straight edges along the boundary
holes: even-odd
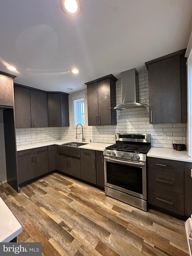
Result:
[[[140,103],[149,104],[148,71],[139,73]],[[69,119],[70,127],[55,128],[26,128],[16,129],[17,145],[37,143],[55,139],[76,141],[76,129],[73,128],[72,98],[73,96],[86,93],[81,90],[69,95]],[[116,101],[122,102],[121,79],[116,82]],[[88,122],[88,118],[87,118]],[[78,133],[81,131],[78,128]],[[163,139],[163,132],[167,132],[167,139]],[[84,128],[86,141],[115,143],[115,133],[147,133],[152,135],[152,146],[172,148],[172,143],[185,144],[185,124],[149,124],[149,107],[135,108],[117,111],[117,125],[88,126]],[[82,136],[79,135],[78,140]]]

